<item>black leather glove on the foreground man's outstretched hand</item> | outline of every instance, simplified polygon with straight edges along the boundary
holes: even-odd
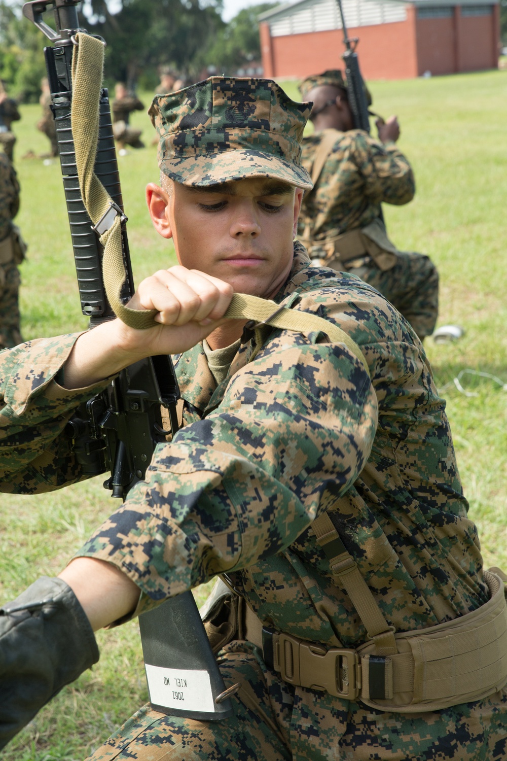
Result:
[[[65,684],[99,660],[78,598],[43,576],[0,609],[0,749]]]

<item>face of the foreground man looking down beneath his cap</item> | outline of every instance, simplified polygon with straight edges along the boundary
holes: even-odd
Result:
[[[290,273],[303,191],[268,179],[210,188],[147,187],[155,227],[173,237],[179,263],[271,298]]]

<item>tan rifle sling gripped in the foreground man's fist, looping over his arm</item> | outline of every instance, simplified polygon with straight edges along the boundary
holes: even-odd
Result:
[[[103,184],[93,172],[97,153],[99,130],[99,98],[102,84],[104,46],[100,40],[82,32],[76,35],[78,46],[72,56],[72,110],[71,128],[74,137],[76,164],[78,167],[81,196],[93,224],[97,224],[111,208],[111,198]],[[122,304],[119,293],[125,279],[122,257],[122,235],[120,217],[116,216],[112,227],[100,237],[104,246],[103,279],[107,298],[112,310],[125,324],[138,330],[151,328],[155,310],[129,309]],[[320,331],[332,342],[343,343],[369,368],[356,342],[338,326],[323,317],[308,312],[299,312],[280,307],[274,301],[234,294],[225,317],[235,320],[252,320],[281,330],[295,330],[302,333]]]

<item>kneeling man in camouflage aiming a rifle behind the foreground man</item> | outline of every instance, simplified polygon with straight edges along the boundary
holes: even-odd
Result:
[[[306,78],[299,86],[313,101],[315,132],[303,139],[303,166],[314,182],[305,193],[299,237],[312,259],[352,272],[382,293],[420,339],[430,336],[439,309],[439,275],[421,253],[400,251],[389,240],[381,203],[414,197],[414,174],[395,145],[397,119],[378,119],[379,140],[353,129],[347,84],[339,70]]]

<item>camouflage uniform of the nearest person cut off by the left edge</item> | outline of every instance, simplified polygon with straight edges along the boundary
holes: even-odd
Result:
[[[14,249],[6,247],[12,234],[11,221],[19,209],[19,191],[14,167],[7,154],[0,151],[0,349],[15,346],[23,340],[18,305],[19,261],[15,260]]]

